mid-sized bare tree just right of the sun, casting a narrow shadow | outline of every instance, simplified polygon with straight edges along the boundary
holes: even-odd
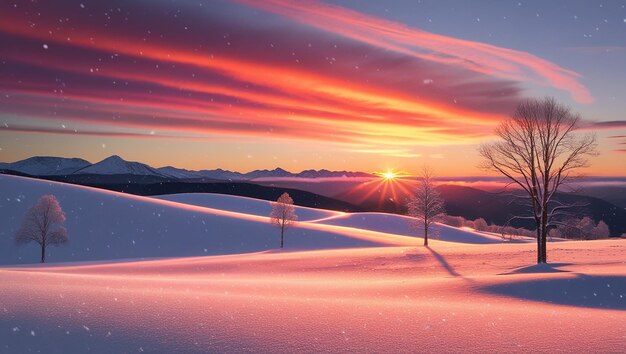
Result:
[[[408,202],[409,216],[414,218],[413,226],[424,230],[424,246],[428,246],[428,233],[435,222],[445,217],[444,202],[435,188],[434,176],[429,167],[422,169],[415,187],[415,194]]]

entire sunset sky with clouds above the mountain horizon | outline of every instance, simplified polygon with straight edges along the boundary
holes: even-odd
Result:
[[[528,98],[626,175],[626,1],[3,1],[0,161],[469,176]]]

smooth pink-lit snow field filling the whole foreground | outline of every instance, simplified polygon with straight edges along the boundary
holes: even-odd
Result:
[[[626,243],[261,252],[0,270],[7,352],[620,352]],[[32,333],[35,333],[32,335]],[[1,350],[0,350],[1,351]]]

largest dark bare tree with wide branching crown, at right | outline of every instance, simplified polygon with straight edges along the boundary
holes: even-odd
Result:
[[[480,147],[481,167],[506,176],[527,197],[532,213],[517,218],[537,225],[537,263],[547,262],[549,228],[579,206],[561,203],[555,194],[579,177],[578,170],[597,154],[594,135],[576,134],[580,121],[578,114],[552,98],[527,100],[496,129],[500,140]]]

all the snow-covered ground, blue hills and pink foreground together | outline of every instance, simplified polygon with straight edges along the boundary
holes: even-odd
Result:
[[[553,263],[532,266],[532,243],[444,228],[455,242],[422,247],[401,216],[320,210],[277,251],[267,202],[0,176],[3,263],[27,261],[4,242],[47,193],[70,236],[50,260],[88,262],[0,267],[0,352],[621,352],[626,342],[625,240],[549,243]],[[214,255],[198,256],[203,247]],[[19,252],[33,261],[33,251]],[[237,251],[252,253],[226,254]],[[144,254],[170,258],[115,261]]]

